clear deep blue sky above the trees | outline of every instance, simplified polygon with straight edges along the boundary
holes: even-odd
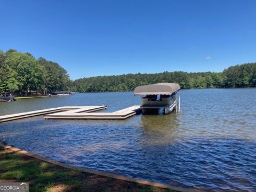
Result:
[[[222,71],[256,61],[256,1],[4,1],[0,49],[58,62],[71,79]]]

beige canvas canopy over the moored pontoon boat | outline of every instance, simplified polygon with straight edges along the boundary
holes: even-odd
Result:
[[[134,95],[171,95],[179,91],[180,85],[177,83],[156,83],[151,85],[142,85],[134,89]]]

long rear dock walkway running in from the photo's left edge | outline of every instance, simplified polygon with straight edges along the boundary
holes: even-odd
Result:
[[[18,114],[0,116],[0,122],[12,121],[14,119],[33,117],[33,116],[38,116],[38,115],[57,113],[57,112],[60,112],[60,111],[79,110],[81,112],[89,113],[89,112],[93,112],[93,111],[97,111],[97,110],[102,110],[102,109],[106,109],[106,108],[107,108],[107,106],[66,106],[66,107],[55,107],[55,108],[50,108],[50,109],[42,109],[42,110],[29,111],[29,112],[25,112],[25,113],[18,113]]]

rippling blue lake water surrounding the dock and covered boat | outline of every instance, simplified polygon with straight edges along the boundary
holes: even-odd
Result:
[[[59,106],[140,105],[132,92],[0,103],[0,115]],[[256,89],[181,90],[182,113],[0,124],[0,140],[70,165],[178,187],[256,191]]]

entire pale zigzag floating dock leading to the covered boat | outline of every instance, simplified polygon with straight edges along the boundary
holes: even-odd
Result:
[[[45,119],[125,119],[141,113],[140,106],[132,106],[112,113],[93,113],[107,106],[67,106],[0,116],[0,122],[44,115]]]

